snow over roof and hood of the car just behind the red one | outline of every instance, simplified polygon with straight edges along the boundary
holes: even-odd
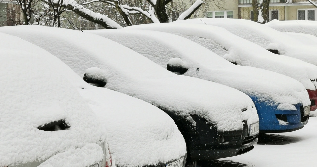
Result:
[[[244,19],[221,18],[190,19],[176,22],[191,22],[223,27],[235,35],[260,45],[262,48],[278,50],[280,55],[294,57],[317,65],[317,55],[315,55],[317,49],[314,46],[303,45],[301,41],[294,39],[292,36],[261,23]]]

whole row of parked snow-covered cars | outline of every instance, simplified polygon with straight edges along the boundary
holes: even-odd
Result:
[[[268,29],[1,27],[0,166],[184,167],[301,129],[317,108],[315,51]]]

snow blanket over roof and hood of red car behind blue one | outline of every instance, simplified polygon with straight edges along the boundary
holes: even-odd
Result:
[[[315,90],[311,82],[317,78],[315,65],[288,56],[273,54],[221,27],[189,23],[160,23],[134,25],[124,29],[147,29],[180,35],[208,48],[230,62],[284,74],[300,81],[306,89]]]

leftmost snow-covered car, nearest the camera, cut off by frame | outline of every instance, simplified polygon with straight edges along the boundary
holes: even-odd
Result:
[[[68,77],[41,48],[0,39],[0,166],[115,166],[105,130]]]

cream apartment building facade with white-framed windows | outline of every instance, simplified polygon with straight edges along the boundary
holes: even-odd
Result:
[[[258,0],[260,2],[260,0]],[[314,0],[316,1],[316,0]],[[241,18],[252,20],[252,0],[226,0],[223,8],[213,7],[202,17]],[[317,20],[317,8],[307,0],[271,0],[268,21],[277,20]]]

